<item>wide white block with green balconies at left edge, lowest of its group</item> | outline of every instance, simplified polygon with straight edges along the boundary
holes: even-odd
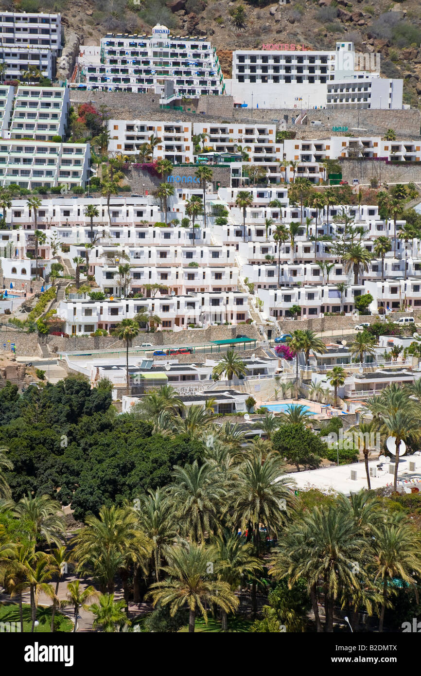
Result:
[[[88,179],[89,143],[49,143],[0,139],[0,185],[24,188],[84,186]]]

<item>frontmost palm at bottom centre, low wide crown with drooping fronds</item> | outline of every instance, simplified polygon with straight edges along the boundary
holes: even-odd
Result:
[[[189,633],[195,631],[198,613],[207,623],[206,607],[214,605],[225,612],[233,612],[239,600],[227,582],[209,577],[209,553],[203,545],[187,543],[173,547],[169,554],[168,566],[163,570],[168,577],[151,585],[149,592],[154,606],[170,605],[172,617],[179,608],[189,608]]]

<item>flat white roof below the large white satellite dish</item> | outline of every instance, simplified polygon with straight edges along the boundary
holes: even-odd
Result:
[[[410,462],[415,462],[416,470],[410,472]],[[368,466],[376,468],[376,477],[370,477],[372,489],[383,488],[388,484],[393,484],[393,474],[389,473],[389,464],[395,466],[394,458],[390,462],[382,464],[381,468],[377,466],[379,460],[370,460]],[[351,470],[357,473],[357,479],[351,479]],[[318,488],[320,491],[336,491],[349,496],[350,493],[357,493],[363,488],[367,488],[366,467],[364,462],[353,462],[347,465],[333,465],[322,467],[320,469],[307,470],[305,472],[295,472],[284,475],[294,479],[297,488],[303,490],[309,488]],[[399,459],[399,480],[403,485],[410,481],[410,477],[420,477],[421,481],[421,456],[402,456]],[[415,484],[414,484],[415,485]]]

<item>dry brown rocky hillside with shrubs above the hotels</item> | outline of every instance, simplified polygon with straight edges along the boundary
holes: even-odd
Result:
[[[0,1],[10,7],[8,1]],[[421,104],[421,5],[418,0],[20,0],[26,11],[61,11],[69,39],[86,44],[101,35],[149,32],[156,23],[175,34],[207,36],[218,49],[230,76],[233,49],[262,43],[304,43],[332,49],[337,40],[352,40],[360,51],[380,52],[381,72],[405,80],[406,103]]]

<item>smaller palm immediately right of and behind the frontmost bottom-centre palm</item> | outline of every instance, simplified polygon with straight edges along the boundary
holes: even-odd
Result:
[[[234,592],[245,575],[262,571],[262,564],[253,556],[253,546],[225,529],[212,541],[209,558],[215,562],[214,572],[220,582],[226,582]],[[222,608],[222,631],[228,631],[228,612]]]

